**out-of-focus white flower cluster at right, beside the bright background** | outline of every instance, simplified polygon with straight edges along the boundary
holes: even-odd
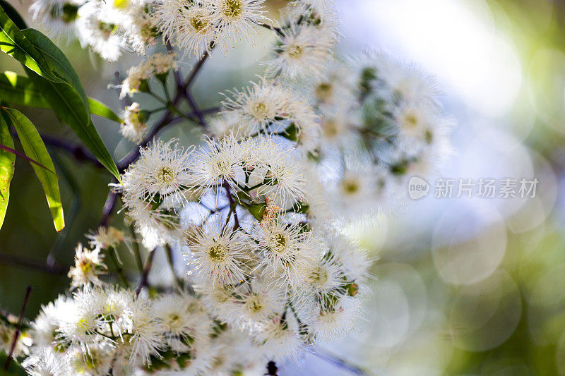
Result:
[[[404,205],[410,176],[434,176],[451,154],[451,121],[434,78],[367,52],[333,61],[311,85],[321,115],[317,169],[324,194],[344,217]]]

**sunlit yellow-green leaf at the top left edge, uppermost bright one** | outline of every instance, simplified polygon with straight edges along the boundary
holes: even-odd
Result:
[[[54,75],[40,52],[33,47],[2,8],[0,8],[0,51],[6,52],[47,80],[64,82]]]

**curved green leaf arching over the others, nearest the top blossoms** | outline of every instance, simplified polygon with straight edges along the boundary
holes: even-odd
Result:
[[[90,119],[90,114],[88,113],[88,101],[86,99],[83,85],[81,84],[81,79],[78,78],[78,74],[69,62],[69,59],[66,58],[63,51],[51,42],[48,37],[35,29],[22,30],[22,34],[29,42],[31,42],[33,47],[40,52],[43,59],[47,62],[47,66],[69,83],[78,95],[80,95],[83,105],[87,110],[84,115],[84,121],[88,121]]]

